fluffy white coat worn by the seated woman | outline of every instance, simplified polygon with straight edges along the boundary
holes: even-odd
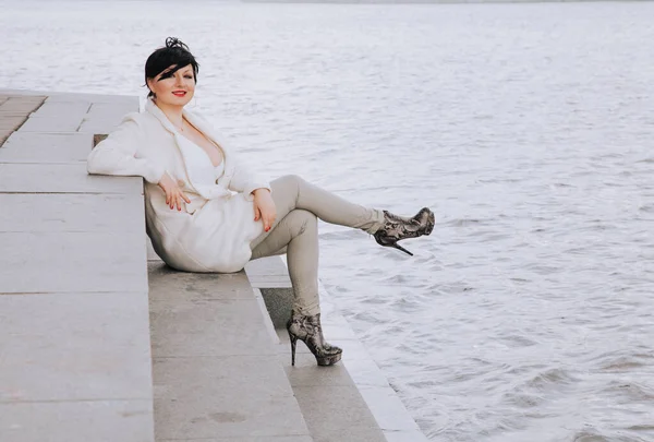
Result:
[[[240,163],[206,120],[184,110],[184,117],[223,152],[225,172],[216,184],[194,180],[189,148],[166,115],[148,99],[144,112],[129,114],[88,155],[89,174],[145,178],[147,235],[170,266],[186,272],[231,273],[250,260],[251,241],[263,232],[254,220],[252,191],[270,189]],[[168,172],[191,200],[179,212],[166,204],[157,182]]]

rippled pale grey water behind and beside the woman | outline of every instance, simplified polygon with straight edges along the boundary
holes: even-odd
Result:
[[[413,259],[320,225],[323,282],[431,440],[654,441],[654,3],[0,11],[0,85],[144,96],[174,35],[258,169],[432,206]]]

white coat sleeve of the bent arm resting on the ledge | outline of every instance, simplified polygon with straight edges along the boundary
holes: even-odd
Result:
[[[130,116],[100,142],[88,155],[86,169],[89,174],[140,176],[156,184],[164,172],[164,166],[146,158],[138,158],[138,146],[145,143],[143,130]]]

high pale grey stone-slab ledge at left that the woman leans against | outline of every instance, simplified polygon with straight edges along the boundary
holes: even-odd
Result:
[[[0,92],[0,441],[154,441],[143,183],[87,176],[96,97],[52,98]]]

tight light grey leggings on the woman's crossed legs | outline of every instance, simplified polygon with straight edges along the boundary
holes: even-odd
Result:
[[[252,241],[252,259],[286,252],[295,297],[293,310],[317,314],[320,304],[316,217],[374,234],[384,223],[384,212],[352,204],[294,175],[276,179],[270,188],[277,219],[270,230]]]

